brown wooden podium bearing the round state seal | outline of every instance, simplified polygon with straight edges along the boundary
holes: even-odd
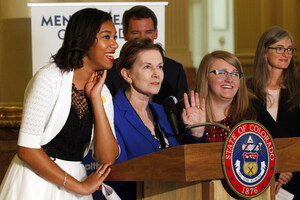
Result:
[[[300,171],[300,137],[274,139],[274,142],[276,173]],[[236,199],[225,190],[223,145],[223,142],[179,145],[121,162],[111,167],[107,180],[136,181],[139,200]],[[254,199],[275,200],[274,181],[264,194]]]

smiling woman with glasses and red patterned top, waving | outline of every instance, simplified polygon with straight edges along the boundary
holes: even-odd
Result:
[[[249,101],[243,69],[236,56],[214,51],[202,59],[196,75],[195,91],[184,95],[184,124],[217,122],[231,129],[245,119],[255,119]],[[201,102],[200,100],[201,99]],[[191,135],[206,142],[223,142],[227,132],[219,127],[191,129]]]

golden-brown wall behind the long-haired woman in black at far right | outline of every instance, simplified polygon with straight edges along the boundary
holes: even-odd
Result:
[[[299,49],[299,0],[235,0],[235,53],[242,62],[246,76],[253,73],[256,45],[261,34],[271,26],[287,29]],[[295,60],[299,68],[299,56]]]

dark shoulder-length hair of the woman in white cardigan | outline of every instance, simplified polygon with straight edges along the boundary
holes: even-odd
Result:
[[[112,21],[111,14],[96,8],[85,8],[74,13],[68,22],[61,48],[52,56],[53,62],[62,71],[81,68],[82,59],[106,21]]]

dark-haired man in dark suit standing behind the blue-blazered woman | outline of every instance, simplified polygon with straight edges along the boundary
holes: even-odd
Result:
[[[136,37],[147,37],[153,42],[157,39],[157,18],[152,10],[145,6],[134,6],[123,14],[123,35],[126,41]],[[120,78],[116,71],[115,60],[113,67],[108,70],[105,84],[110,89],[112,96],[115,96],[122,88]],[[157,95],[152,97],[155,103],[163,104],[164,99],[175,96],[183,98],[183,93],[188,92],[186,75],[182,64],[170,59],[164,59],[164,80]]]

